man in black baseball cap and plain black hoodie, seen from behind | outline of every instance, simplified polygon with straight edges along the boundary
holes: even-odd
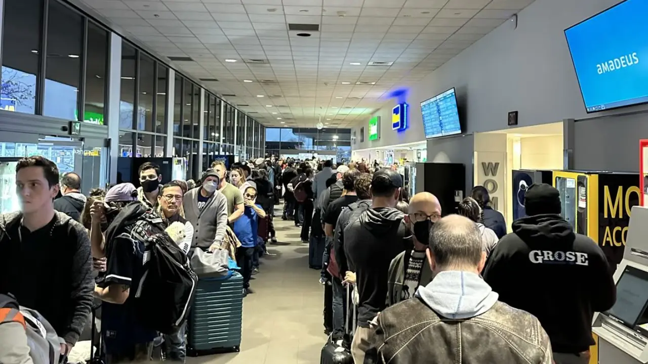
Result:
[[[358,328],[351,354],[363,363],[369,348],[370,322],[386,307],[391,260],[410,246],[411,233],[404,214],[394,207],[399,202],[403,179],[394,170],[378,170],[371,179],[371,208],[360,210],[358,218],[344,230],[345,254],[349,270],[356,273],[358,288]]]

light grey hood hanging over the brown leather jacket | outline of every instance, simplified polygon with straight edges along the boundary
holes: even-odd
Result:
[[[477,273],[442,271],[419,287],[420,297],[434,312],[448,319],[469,319],[487,312],[498,294]]]

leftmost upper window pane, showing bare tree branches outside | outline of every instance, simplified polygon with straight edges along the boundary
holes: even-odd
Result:
[[[6,1],[0,108],[36,113],[43,1]]]

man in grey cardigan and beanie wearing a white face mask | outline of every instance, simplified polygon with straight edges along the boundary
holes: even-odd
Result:
[[[187,191],[183,199],[185,218],[194,226],[192,249],[212,251],[223,243],[227,227],[227,198],[218,191],[218,172],[207,168],[202,187]]]

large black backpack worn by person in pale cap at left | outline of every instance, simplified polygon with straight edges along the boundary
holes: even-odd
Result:
[[[130,239],[144,243],[144,273],[137,287],[130,290],[137,320],[145,328],[174,334],[189,317],[198,276],[164,229],[155,212],[133,202],[108,227],[106,242]]]

